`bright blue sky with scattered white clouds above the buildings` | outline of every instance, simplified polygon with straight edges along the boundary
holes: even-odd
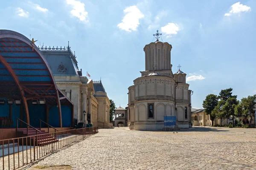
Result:
[[[127,106],[156,30],[172,45],[172,72],[180,64],[187,74],[192,108],[221,89],[256,94],[256,0],[1,0],[0,16],[0,29],[36,45],[69,41],[83,75],[101,78],[116,107]]]

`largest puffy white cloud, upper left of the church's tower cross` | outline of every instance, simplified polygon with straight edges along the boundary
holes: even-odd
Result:
[[[125,31],[136,31],[140,25],[140,19],[144,17],[144,14],[137,8],[137,6],[129,6],[124,9],[125,16],[122,19],[122,23],[117,26]]]

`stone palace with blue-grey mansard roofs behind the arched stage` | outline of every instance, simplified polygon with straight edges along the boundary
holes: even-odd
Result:
[[[74,104],[74,122],[89,122],[93,126],[109,128],[110,101],[101,81],[82,75],[75,54],[67,48],[39,48],[47,60],[58,88]]]

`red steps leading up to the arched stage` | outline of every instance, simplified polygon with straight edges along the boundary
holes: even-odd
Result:
[[[37,129],[39,130],[39,128]],[[40,131],[41,132],[37,133],[39,136],[35,136],[36,130],[33,128],[29,128],[28,133],[27,133],[27,128],[18,128],[17,135],[18,137],[31,136],[31,142],[34,142],[35,140],[35,144],[38,146],[39,145],[44,146],[50,143],[58,142],[58,139],[56,139],[56,137],[52,136],[50,133],[45,132],[45,130],[40,130]]]

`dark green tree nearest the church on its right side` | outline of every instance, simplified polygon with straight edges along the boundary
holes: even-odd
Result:
[[[212,125],[216,117],[215,113],[212,111],[217,105],[218,105],[218,99],[217,99],[217,96],[214,94],[207,95],[203,102],[204,111],[207,115],[210,115],[210,120],[212,121]]]

